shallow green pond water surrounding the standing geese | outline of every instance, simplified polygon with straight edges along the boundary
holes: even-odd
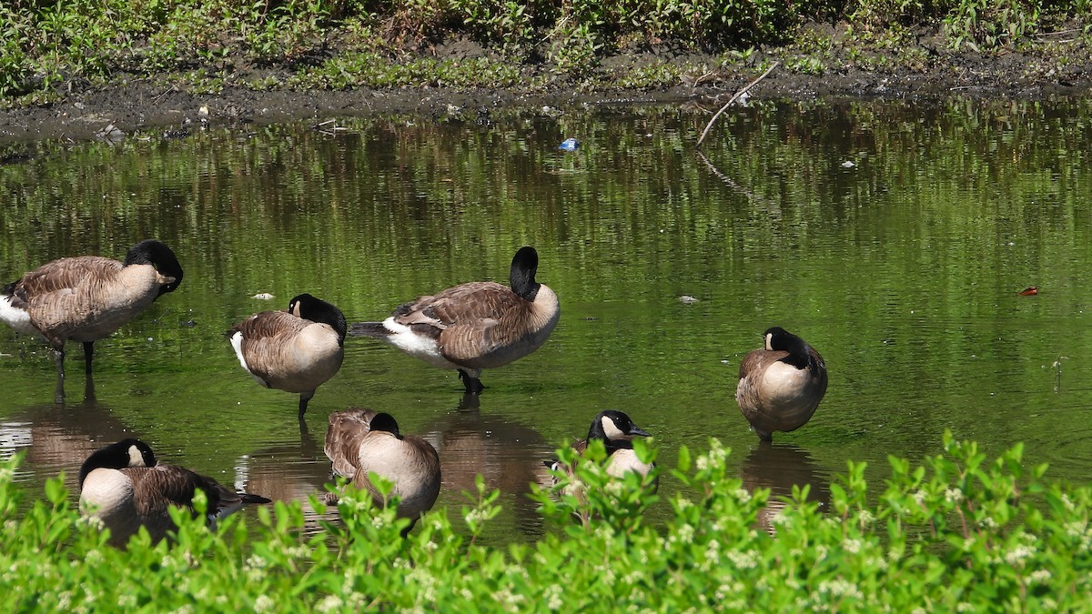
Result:
[[[1029,462],[1087,480],[1092,105],[755,105],[701,156],[708,119],[468,111],[26,145],[29,160],[0,166],[0,279],[157,237],[186,280],[96,343],[94,402],[76,345],[70,402],[55,406],[45,345],[0,331],[0,449],[27,448],[22,477],[39,483],[133,433],[170,462],[299,498],[329,471],[327,414],[371,406],[437,445],[440,505],[458,512],[477,472],[505,491],[498,541],[542,530],[525,484],[601,409],[653,433],[667,467],[717,437],[748,485],[778,492],[826,491],[847,459],[880,487],[888,454],[937,453],[946,428],[990,453],[1024,441]],[[556,150],[567,137],[578,152]],[[477,408],[453,373],[351,338],[301,436],[296,397],[259,388],[223,338],[301,292],[360,321],[505,282],[521,245],[538,249],[561,321],[537,353],[485,373]],[[1017,296],[1030,285],[1037,296]],[[251,298],[263,292],[275,298]],[[822,353],[830,389],[768,450],[733,392],[774,324]]]

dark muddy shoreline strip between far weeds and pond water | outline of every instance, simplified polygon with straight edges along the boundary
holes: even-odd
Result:
[[[926,72],[876,72],[843,69],[822,75],[775,70],[749,95],[759,99],[814,101],[885,98],[939,101],[975,98],[1047,99],[1092,96],[1092,66],[1077,64],[1065,74],[1028,76],[1028,60],[1016,55],[993,58],[951,57]],[[615,60],[615,70],[638,66],[648,58]],[[688,58],[687,61],[692,61]],[[453,108],[559,109],[589,105],[641,105],[698,102],[712,109],[752,81],[760,71],[704,75],[696,83],[667,90],[525,93],[507,90],[454,91],[397,88],[355,91],[254,91],[227,85],[217,94],[191,94],[180,85],[130,82],[100,91],[68,94],[62,102],[0,113],[0,144],[44,139],[104,138],[112,126],[121,133],[165,131],[209,122],[276,123],[348,116],[442,116]]]

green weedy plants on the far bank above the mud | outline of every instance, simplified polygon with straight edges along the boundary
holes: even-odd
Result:
[[[1047,71],[1089,58],[1089,15],[1092,0],[13,0],[0,3],[0,99],[45,103],[133,79],[195,92],[662,88],[764,56],[822,74],[1030,50],[1044,64],[1032,70]],[[939,51],[918,44],[929,33]],[[459,40],[473,57],[434,56]],[[716,59],[608,61],[655,49]]]

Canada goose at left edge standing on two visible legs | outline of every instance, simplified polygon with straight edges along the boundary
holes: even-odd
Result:
[[[99,256],[61,258],[0,290],[0,320],[40,334],[57,359],[57,402],[64,400],[64,343],[83,343],[91,390],[94,343],[114,334],[156,298],[182,283],[182,267],[166,245],[143,240],[122,262]]]

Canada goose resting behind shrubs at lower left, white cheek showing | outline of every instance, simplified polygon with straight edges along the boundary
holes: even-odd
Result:
[[[265,497],[236,493],[188,469],[157,463],[140,439],[122,439],[93,452],[80,468],[80,509],[110,530],[110,543],[124,547],[145,527],[153,541],[175,528],[167,509],[193,510],[200,489],[207,499],[207,520],[215,523],[244,504],[270,503]]]

